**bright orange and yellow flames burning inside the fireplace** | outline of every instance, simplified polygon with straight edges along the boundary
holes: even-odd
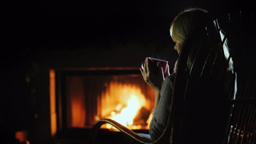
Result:
[[[102,94],[101,118],[113,119],[129,129],[148,129],[151,121],[148,103],[138,86],[110,82]],[[110,124],[104,124],[102,128],[115,129]]]

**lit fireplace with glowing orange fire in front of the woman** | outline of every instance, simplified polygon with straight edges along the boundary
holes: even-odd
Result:
[[[138,68],[50,70],[50,79],[50,91],[56,94],[55,100],[51,98],[56,104],[56,129],[90,129],[101,118],[133,130],[149,128],[154,92]],[[102,128],[116,130],[108,124]]]

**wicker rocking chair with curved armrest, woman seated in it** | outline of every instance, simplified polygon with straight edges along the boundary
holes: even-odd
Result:
[[[248,19],[242,17],[245,15],[248,16]],[[241,56],[239,51],[242,47],[236,41],[238,36],[241,38],[242,34],[250,32],[237,31],[237,26],[247,25],[250,20],[253,20],[250,15],[251,13],[233,11],[218,16],[218,19],[212,19],[213,16],[209,16],[206,23],[195,27],[191,33],[197,37],[188,35],[177,64],[171,113],[168,116],[167,127],[158,140],[152,141],[141,137],[112,119],[100,119],[91,129],[91,143],[96,142],[97,131],[105,123],[120,130],[131,139],[131,143],[255,142],[256,85],[255,69],[252,68],[256,68],[256,65],[254,65],[252,54],[249,58]],[[223,40],[219,33],[216,33],[216,29],[220,31],[219,25],[226,26],[228,32]],[[225,39],[229,39],[229,45],[232,48],[228,61],[232,57],[235,62],[235,73],[231,75],[231,79],[236,79],[237,74],[236,97],[232,97],[232,93],[235,93],[235,89],[232,88],[234,83],[230,83],[230,95],[224,95],[222,89],[224,82],[222,80],[225,79],[225,69],[228,67],[228,63],[223,61]],[[247,46],[249,51],[256,54],[253,45]],[[217,55],[212,54],[214,50],[217,50],[215,52]],[[188,59],[191,62],[191,58],[193,58],[193,63],[190,63],[188,67]],[[253,65],[243,65],[248,62]],[[243,68],[251,69],[246,69],[248,71],[245,72]],[[216,77],[218,78],[216,79]],[[245,78],[246,80],[244,80]],[[166,135],[170,137],[170,140],[163,141],[163,137]]]

